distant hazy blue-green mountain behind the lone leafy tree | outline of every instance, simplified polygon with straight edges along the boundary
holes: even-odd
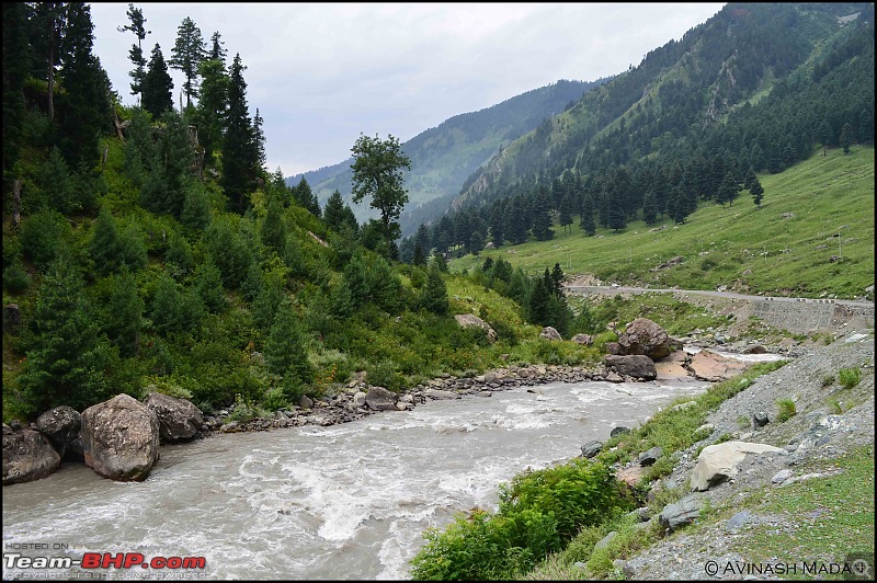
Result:
[[[411,171],[406,173],[405,183],[409,191],[409,204],[400,217],[403,236],[410,235],[420,222],[435,215],[432,210],[435,205],[423,205],[441,199],[443,204],[438,208],[443,210],[447,201],[459,193],[466,178],[499,148],[561,112],[603,82],[603,79],[594,82],[560,80],[491,107],[451,117],[402,144],[402,151],[411,159]],[[294,186],[304,176],[321,203],[335,190],[350,203],[351,163],[352,159],[348,159],[291,176],[286,182]],[[351,207],[361,222],[375,216],[366,203],[351,204]]]

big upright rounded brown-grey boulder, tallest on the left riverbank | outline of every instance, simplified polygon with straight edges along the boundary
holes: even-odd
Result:
[[[122,393],[82,412],[86,465],[104,478],[143,481],[159,457],[159,421],[155,411]]]

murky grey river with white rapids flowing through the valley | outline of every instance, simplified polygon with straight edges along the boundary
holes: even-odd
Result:
[[[144,482],[64,465],[3,488],[9,553],[203,557],[200,571],[50,570],[56,578],[406,579],[428,527],[496,510],[498,484],[580,455],[699,381],[549,384],[431,401],[329,427],[221,434],[163,446]],[[42,549],[42,550],[41,550]],[[21,563],[19,563],[21,564]]]

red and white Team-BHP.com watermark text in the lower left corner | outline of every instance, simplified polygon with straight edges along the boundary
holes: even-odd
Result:
[[[19,552],[3,553],[4,569],[204,569],[207,560],[204,557],[152,557],[140,552],[86,552],[82,559],[70,557],[24,557]]]

